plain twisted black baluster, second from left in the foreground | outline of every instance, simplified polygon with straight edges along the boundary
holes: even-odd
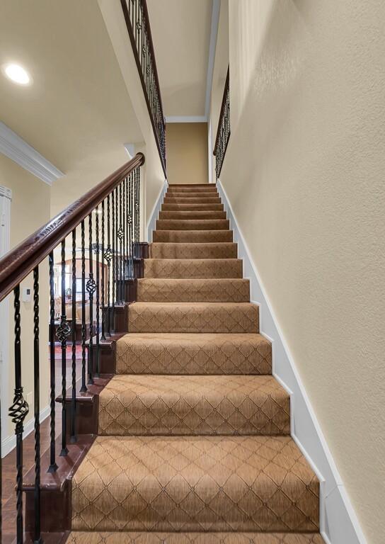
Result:
[[[42,543],[40,534],[40,356],[39,356],[39,267],[33,270],[33,404],[35,412],[35,536],[34,543]]]

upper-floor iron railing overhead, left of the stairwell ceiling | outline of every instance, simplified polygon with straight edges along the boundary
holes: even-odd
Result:
[[[149,110],[156,145],[166,176],[166,122],[163,115],[161,88],[156,69],[146,0],[120,0],[120,2]]]

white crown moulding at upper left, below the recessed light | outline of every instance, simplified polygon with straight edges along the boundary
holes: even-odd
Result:
[[[63,172],[47,161],[20,136],[0,121],[0,153],[48,185],[64,176]]]

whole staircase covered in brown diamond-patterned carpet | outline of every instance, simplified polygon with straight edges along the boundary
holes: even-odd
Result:
[[[321,544],[318,481],[216,186],[170,186],[153,239],[68,542]]]

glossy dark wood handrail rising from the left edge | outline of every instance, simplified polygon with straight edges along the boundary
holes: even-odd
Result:
[[[144,154],[137,153],[113,174],[75,200],[56,217],[43,225],[0,259],[0,301],[11,293],[33,268],[50,254],[125,177],[144,164]]]

